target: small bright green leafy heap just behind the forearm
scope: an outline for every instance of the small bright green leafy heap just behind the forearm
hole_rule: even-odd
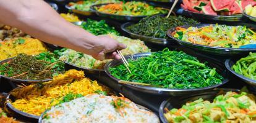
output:
[[[120,35],[118,31],[114,29],[114,27],[106,24],[105,20],[96,21],[87,19],[87,21],[83,22],[80,27],[82,27],[84,30],[89,31],[90,33],[95,34],[96,36],[108,33],[114,34],[116,36]]]

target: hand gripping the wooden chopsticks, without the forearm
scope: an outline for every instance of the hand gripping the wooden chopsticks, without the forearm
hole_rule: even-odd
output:
[[[92,57],[96,60],[105,59],[120,59],[121,57],[117,54],[116,50],[125,49],[126,46],[110,38],[107,35],[97,36],[95,44],[90,49]]]

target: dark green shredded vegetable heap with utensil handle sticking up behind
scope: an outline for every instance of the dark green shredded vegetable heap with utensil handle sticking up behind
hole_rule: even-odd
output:
[[[192,18],[182,16],[170,16],[169,18],[160,15],[153,15],[143,18],[139,23],[127,27],[129,31],[142,36],[166,39],[166,31],[175,26],[193,25],[198,23]]]

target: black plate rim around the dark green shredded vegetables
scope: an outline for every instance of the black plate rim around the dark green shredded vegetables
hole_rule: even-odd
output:
[[[134,38],[134,39],[140,39],[142,41],[145,42],[150,42],[153,44],[161,44],[161,45],[166,45],[166,44],[174,44],[176,43],[173,39],[163,39],[163,38],[151,38],[148,36],[142,36],[140,34],[135,34],[130,32],[129,30],[127,30],[127,27],[130,25],[134,25],[134,23],[132,22],[127,22],[121,25],[121,29],[122,31],[128,33],[130,35],[130,37]]]

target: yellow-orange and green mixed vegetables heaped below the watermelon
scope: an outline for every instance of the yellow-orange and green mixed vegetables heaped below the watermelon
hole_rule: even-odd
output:
[[[211,47],[241,48],[247,44],[256,44],[256,33],[246,26],[216,24],[200,28],[177,27],[171,35],[181,41]]]

